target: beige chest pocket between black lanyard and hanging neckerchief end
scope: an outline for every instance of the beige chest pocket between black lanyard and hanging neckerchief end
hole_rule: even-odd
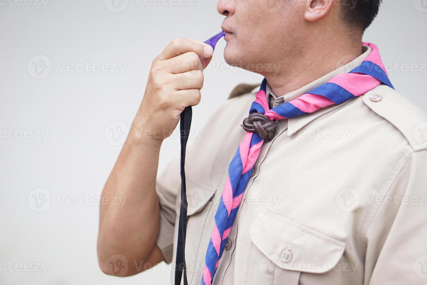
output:
[[[185,262],[187,265],[188,284],[200,284],[205,264],[206,244],[201,244],[202,236],[206,236],[208,229],[212,231],[215,221],[208,219],[212,208],[211,199],[216,193],[216,188],[211,185],[199,182],[190,177],[186,177],[187,186],[187,235],[185,240]],[[181,199],[177,199],[175,212],[177,221]],[[213,211],[215,211],[214,209]],[[210,237],[211,232],[209,232]]]

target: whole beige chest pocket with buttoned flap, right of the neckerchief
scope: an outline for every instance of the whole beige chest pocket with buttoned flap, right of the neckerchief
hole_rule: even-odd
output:
[[[269,280],[263,284],[298,285],[302,273],[328,273],[328,284],[337,284],[340,274],[331,270],[341,259],[345,243],[265,209],[252,223],[250,238],[255,247],[250,262],[258,270],[248,276]]]

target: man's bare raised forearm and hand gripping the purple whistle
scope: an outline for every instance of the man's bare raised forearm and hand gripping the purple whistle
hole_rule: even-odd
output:
[[[202,71],[212,54],[207,44],[175,39],[152,64],[131,132],[102,191],[102,199],[126,198],[123,208],[100,206],[98,259],[107,274],[117,275],[111,259],[129,264],[120,276],[164,260],[156,245],[160,206],[155,186],[161,142],[171,135],[184,108],[199,103]]]

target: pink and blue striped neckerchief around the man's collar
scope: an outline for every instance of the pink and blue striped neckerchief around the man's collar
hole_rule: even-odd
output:
[[[360,66],[349,73],[339,74],[297,99],[272,109],[269,108],[267,102],[266,79],[264,79],[249,114],[258,112],[266,115],[270,120],[295,118],[326,106],[344,103],[371,91],[381,83],[394,89],[381,61],[377,46],[369,43],[363,44],[371,47],[371,53]],[[206,252],[202,285],[212,284],[231,226],[263,143],[264,140],[256,133],[246,132],[236,155],[228,166],[228,179],[216,210],[215,227]]]

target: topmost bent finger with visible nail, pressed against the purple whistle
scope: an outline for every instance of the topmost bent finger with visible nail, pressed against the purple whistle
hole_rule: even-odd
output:
[[[160,60],[172,59],[189,51],[197,53],[201,58],[208,58],[213,55],[213,48],[201,41],[189,40],[186,38],[175,38],[158,56]]]

